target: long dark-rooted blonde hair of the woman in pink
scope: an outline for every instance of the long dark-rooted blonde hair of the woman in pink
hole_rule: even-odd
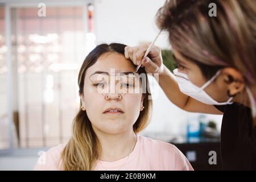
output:
[[[78,78],[80,94],[83,93],[86,70],[96,63],[98,57],[106,52],[116,52],[123,55],[125,47],[125,45],[118,43],[112,43],[109,45],[101,44],[86,56],[84,63],[81,66]],[[146,75],[144,68],[140,68],[139,73],[145,73]],[[137,121],[134,123],[133,129],[135,133],[142,131],[147,126],[151,118],[152,100],[148,100],[148,96],[150,96],[148,89],[146,89],[146,93],[143,94],[144,110],[141,111]],[[69,140],[61,154],[63,169],[67,171],[92,170],[97,159],[100,158],[100,155],[101,144],[93,131],[92,124],[86,114],[86,111],[80,109],[73,121],[72,138]]]

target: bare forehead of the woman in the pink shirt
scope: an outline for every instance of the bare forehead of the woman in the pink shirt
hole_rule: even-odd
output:
[[[109,52],[101,55],[96,63],[87,69],[86,75],[92,75],[94,72],[110,69],[115,69],[119,72],[133,72],[135,67],[130,60],[125,59],[124,55]]]

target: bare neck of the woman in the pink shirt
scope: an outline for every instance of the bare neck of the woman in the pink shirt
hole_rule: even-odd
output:
[[[137,137],[133,129],[119,134],[108,134],[94,129],[101,143],[100,160],[113,162],[128,156],[133,150]]]

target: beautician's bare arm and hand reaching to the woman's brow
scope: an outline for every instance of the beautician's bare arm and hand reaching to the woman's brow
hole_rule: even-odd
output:
[[[142,63],[147,73],[159,73],[159,85],[169,100],[183,110],[195,113],[223,114],[213,105],[207,105],[180,92],[174,74],[163,64],[159,47],[153,46],[148,57],[143,59],[149,44],[125,47],[125,57],[135,65]]]

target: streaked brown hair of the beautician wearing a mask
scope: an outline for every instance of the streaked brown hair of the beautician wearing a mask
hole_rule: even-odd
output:
[[[217,16],[209,16],[215,3]],[[247,85],[256,80],[256,6],[253,0],[167,0],[156,24],[169,32],[173,48],[195,62],[210,78],[221,67],[233,67]]]

